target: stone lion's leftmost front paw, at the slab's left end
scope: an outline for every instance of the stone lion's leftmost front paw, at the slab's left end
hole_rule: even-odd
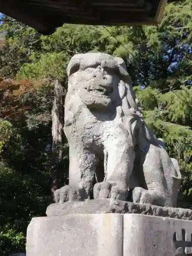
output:
[[[67,201],[84,201],[87,199],[86,190],[70,185],[63,186],[54,192],[56,203],[65,203]]]

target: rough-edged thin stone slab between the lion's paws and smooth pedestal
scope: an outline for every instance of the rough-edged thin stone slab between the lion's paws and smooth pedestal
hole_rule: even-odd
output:
[[[121,200],[95,199],[84,202],[55,203],[47,207],[47,216],[69,216],[78,214],[141,214],[192,221],[192,210],[161,207]]]

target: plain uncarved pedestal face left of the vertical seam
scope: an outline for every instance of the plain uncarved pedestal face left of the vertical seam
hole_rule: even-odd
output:
[[[122,215],[33,218],[27,229],[27,256],[121,256]]]

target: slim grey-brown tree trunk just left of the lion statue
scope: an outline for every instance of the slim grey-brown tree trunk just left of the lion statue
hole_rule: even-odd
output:
[[[59,163],[63,158],[63,125],[64,125],[64,94],[62,84],[58,79],[54,83],[54,101],[52,108],[52,153],[55,164]],[[59,169],[54,168],[52,174],[52,201],[54,201],[53,193],[59,188]]]

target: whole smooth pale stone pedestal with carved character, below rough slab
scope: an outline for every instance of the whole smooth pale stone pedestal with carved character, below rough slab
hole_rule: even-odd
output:
[[[138,214],[33,218],[27,256],[175,256],[192,253],[192,221]]]

